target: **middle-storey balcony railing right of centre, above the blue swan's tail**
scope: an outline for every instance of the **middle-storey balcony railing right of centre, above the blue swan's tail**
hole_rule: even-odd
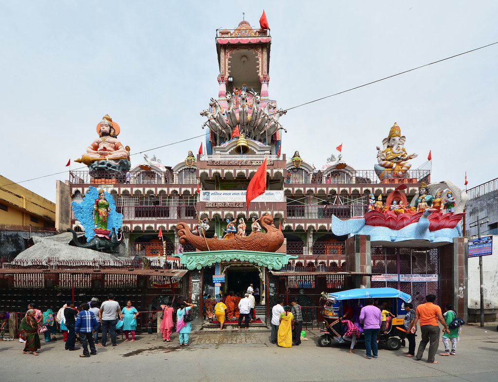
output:
[[[287,219],[332,219],[335,215],[339,219],[350,219],[363,216],[368,211],[368,205],[300,205],[287,206]]]

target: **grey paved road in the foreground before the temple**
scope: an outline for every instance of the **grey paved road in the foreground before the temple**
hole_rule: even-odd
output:
[[[403,348],[381,350],[376,360],[365,360],[362,348],[355,354],[349,354],[346,347],[320,348],[315,332],[291,349],[272,345],[267,333],[250,331],[192,333],[187,348],[176,341],[166,344],[153,336],[138,336],[133,343],[120,340],[115,348],[98,348],[91,358],[79,358],[80,351],[64,351],[62,341],[42,343],[38,357],[22,354],[17,341],[0,342],[0,381],[135,377],[147,382],[497,382],[498,333],[494,328],[466,326],[457,356],[438,356],[440,364],[433,365],[404,357]]]

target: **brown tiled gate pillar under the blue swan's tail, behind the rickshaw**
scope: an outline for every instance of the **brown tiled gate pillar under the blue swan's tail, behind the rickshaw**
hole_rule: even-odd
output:
[[[349,272],[372,273],[370,235],[355,235],[346,240],[346,262]],[[370,288],[370,276],[355,276],[355,288]]]

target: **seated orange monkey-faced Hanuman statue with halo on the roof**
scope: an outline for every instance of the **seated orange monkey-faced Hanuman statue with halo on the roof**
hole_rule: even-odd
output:
[[[91,171],[128,171],[130,148],[118,139],[120,126],[106,114],[97,125],[97,133],[99,137],[75,162],[86,164]]]

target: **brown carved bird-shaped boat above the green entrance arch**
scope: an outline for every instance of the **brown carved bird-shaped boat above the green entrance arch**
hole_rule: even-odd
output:
[[[187,224],[178,223],[176,230],[182,245],[187,242],[200,251],[244,250],[259,252],[276,252],[283,244],[283,234],[273,225],[270,215],[261,217],[261,226],[266,233],[258,232],[250,236],[235,236],[231,239],[204,238],[190,232]],[[207,242],[207,245],[206,245]],[[209,249],[208,249],[209,246]]]

